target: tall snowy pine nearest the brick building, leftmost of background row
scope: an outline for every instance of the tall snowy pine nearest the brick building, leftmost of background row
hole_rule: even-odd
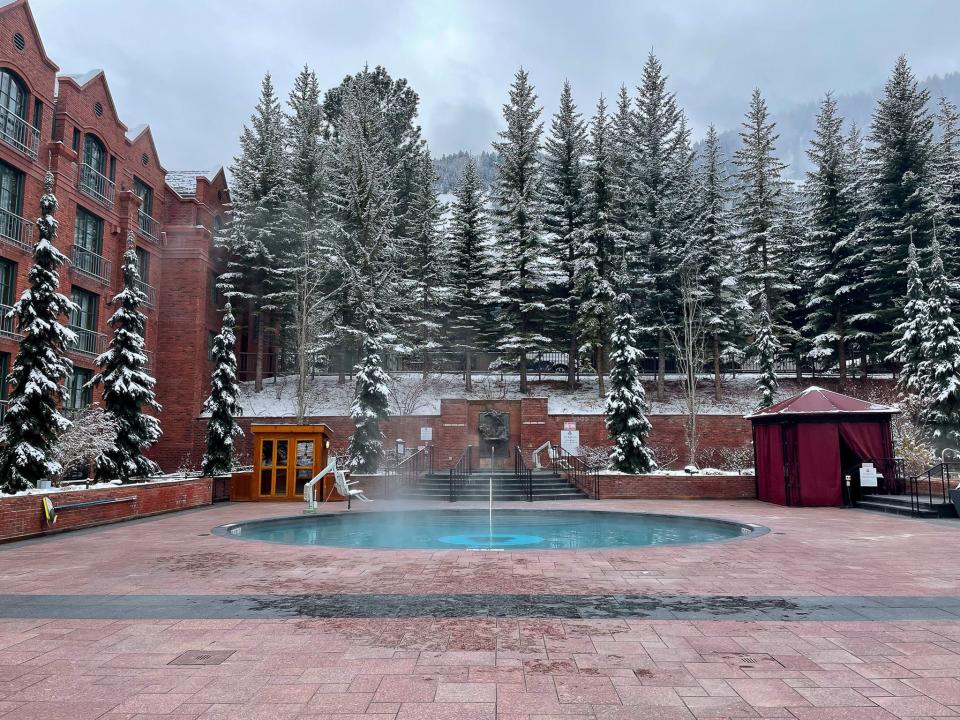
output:
[[[219,278],[229,287],[227,296],[241,304],[250,319],[257,392],[263,389],[266,333],[272,327],[272,314],[282,308],[274,294],[284,290],[285,279],[277,258],[290,240],[284,213],[284,136],[283,111],[268,73],[250,124],[240,135],[240,154],[230,166],[230,225],[221,238],[227,272]]]

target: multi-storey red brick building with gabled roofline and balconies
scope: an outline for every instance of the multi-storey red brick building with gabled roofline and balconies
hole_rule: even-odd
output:
[[[209,343],[219,330],[213,234],[228,201],[222,169],[168,172],[150,128],[128,128],[102,70],[60,74],[26,0],[0,4],[0,313],[27,283],[44,176],[59,201],[57,246],[69,258],[60,289],[77,310],[69,325],[67,410],[96,400],[84,384],[109,339],[113,296],[122,287],[128,238],[140,259],[147,304],[149,370],[164,406],[162,445],[170,469],[192,446],[208,391]],[[0,374],[17,352],[0,319]],[[7,387],[0,383],[0,402]]]

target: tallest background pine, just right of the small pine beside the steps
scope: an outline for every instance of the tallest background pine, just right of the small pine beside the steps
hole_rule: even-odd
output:
[[[653,53],[643,67],[632,115],[633,147],[627,166],[633,235],[627,269],[640,334],[657,352],[657,399],[663,399],[667,326],[677,322],[678,268],[689,239],[695,200],[689,131],[667,77]],[[643,302],[640,302],[640,298]]]

